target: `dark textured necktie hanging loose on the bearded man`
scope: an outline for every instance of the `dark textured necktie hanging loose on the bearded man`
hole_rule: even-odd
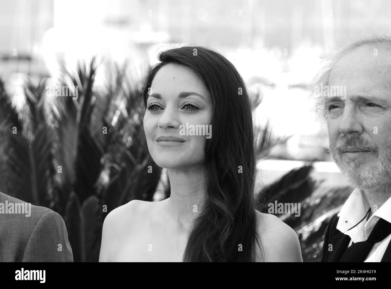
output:
[[[364,262],[373,245],[383,241],[391,234],[391,223],[384,219],[379,219],[373,227],[372,232],[366,241],[353,243],[342,255],[339,262]]]

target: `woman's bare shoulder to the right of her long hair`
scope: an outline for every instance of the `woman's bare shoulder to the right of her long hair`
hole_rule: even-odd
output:
[[[256,211],[265,262],[303,262],[296,232],[278,217]]]

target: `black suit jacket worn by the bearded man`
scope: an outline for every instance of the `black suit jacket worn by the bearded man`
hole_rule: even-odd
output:
[[[335,214],[328,223],[321,262],[339,262],[350,243],[350,237],[337,230],[338,216]],[[332,251],[328,251],[329,244],[332,244]],[[391,262],[391,242],[384,252],[381,262]]]

